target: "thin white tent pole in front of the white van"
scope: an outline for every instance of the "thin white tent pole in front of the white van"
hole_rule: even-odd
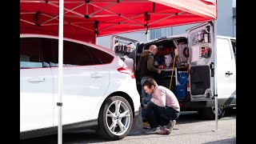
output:
[[[217,89],[217,21],[214,20],[214,98],[215,98],[215,130],[218,130],[218,89]]]

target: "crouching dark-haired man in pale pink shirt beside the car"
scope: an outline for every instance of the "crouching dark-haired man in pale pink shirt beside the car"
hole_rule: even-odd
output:
[[[150,129],[155,131],[160,129],[159,126],[165,126],[173,130],[180,114],[180,106],[174,93],[165,86],[158,86],[153,78],[147,78],[142,86],[146,94],[152,94],[150,102],[144,106]]]

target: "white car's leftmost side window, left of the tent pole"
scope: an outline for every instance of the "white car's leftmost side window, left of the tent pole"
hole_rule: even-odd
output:
[[[38,68],[42,66],[40,39],[20,38],[20,68]]]

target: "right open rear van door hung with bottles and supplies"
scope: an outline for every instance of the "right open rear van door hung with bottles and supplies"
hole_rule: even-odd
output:
[[[214,23],[207,22],[188,30],[189,84],[191,102],[214,97]]]

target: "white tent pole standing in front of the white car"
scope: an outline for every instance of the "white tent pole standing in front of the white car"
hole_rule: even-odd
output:
[[[62,74],[63,74],[63,12],[64,0],[59,0],[58,19],[58,144],[62,144]]]

